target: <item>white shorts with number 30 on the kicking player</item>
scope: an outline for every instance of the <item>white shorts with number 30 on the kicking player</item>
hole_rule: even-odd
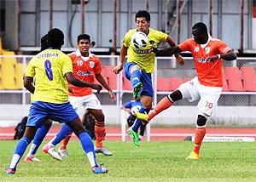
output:
[[[213,108],[218,104],[218,98],[222,91],[222,88],[219,87],[202,85],[197,77],[189,82],[184,82],[177,89],[183,94],[183,99],[187,99],[189,102],[199,100],[197,105],[199,111],[209,117],[212,115]]]

